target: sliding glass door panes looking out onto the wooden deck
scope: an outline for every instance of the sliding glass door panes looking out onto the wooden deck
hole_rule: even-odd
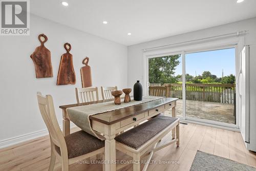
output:
[[[148,57],[147,67],[148,94],[178,98],[179,118],[236,124],[235,48]]]

